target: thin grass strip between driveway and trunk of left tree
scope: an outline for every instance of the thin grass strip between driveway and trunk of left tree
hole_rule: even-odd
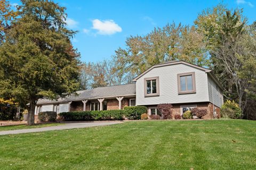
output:
[[[10,126],[0,126],[0,131],[9,131],[17,129],[30,129],[30,128],[43,128],[47,126],[58,126],[63,125],[64,123],[45,123],[45,124],[35,124],[33,126],[28,126],[26,124],[21,125],[10,125]]]

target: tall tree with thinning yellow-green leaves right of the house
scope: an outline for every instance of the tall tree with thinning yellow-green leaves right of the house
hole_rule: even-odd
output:
[[[248,100],[255,101],[256,77],[255,27],[246,23],[243,10],[232,11],[223,5],[203,11],[195,21],[205,35],[213,70],[226,89],[226,98],[238,101],[243,111]]]

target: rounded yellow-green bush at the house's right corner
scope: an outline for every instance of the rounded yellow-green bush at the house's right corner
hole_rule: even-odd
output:
[[[227,100],[220,109],[221,117],[240,118],[242,117],[242,109],[235,101]]]

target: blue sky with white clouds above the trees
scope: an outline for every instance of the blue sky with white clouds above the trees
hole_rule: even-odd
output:
[[[198,13],[222,1],[55,0],[67,7],[68,28],[79,31],[73,45],[81,61],[97,62],[125,47],[130,35],[146,35],[168,22],[193,24]],[[249,24],[256,20],[256,0],[223,1],[229,8],[243,8]],[[20,4],[11,1],[11,4]]]

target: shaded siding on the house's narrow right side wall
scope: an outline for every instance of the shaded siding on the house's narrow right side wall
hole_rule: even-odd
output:
[[[208,91],[209,91],[209,101],[212,104],[218,107],[221,107],[223,104],[222,90],[220,89],[219,86],[217,86],[217,83],[215,83],[209,75],[208,75]]]

